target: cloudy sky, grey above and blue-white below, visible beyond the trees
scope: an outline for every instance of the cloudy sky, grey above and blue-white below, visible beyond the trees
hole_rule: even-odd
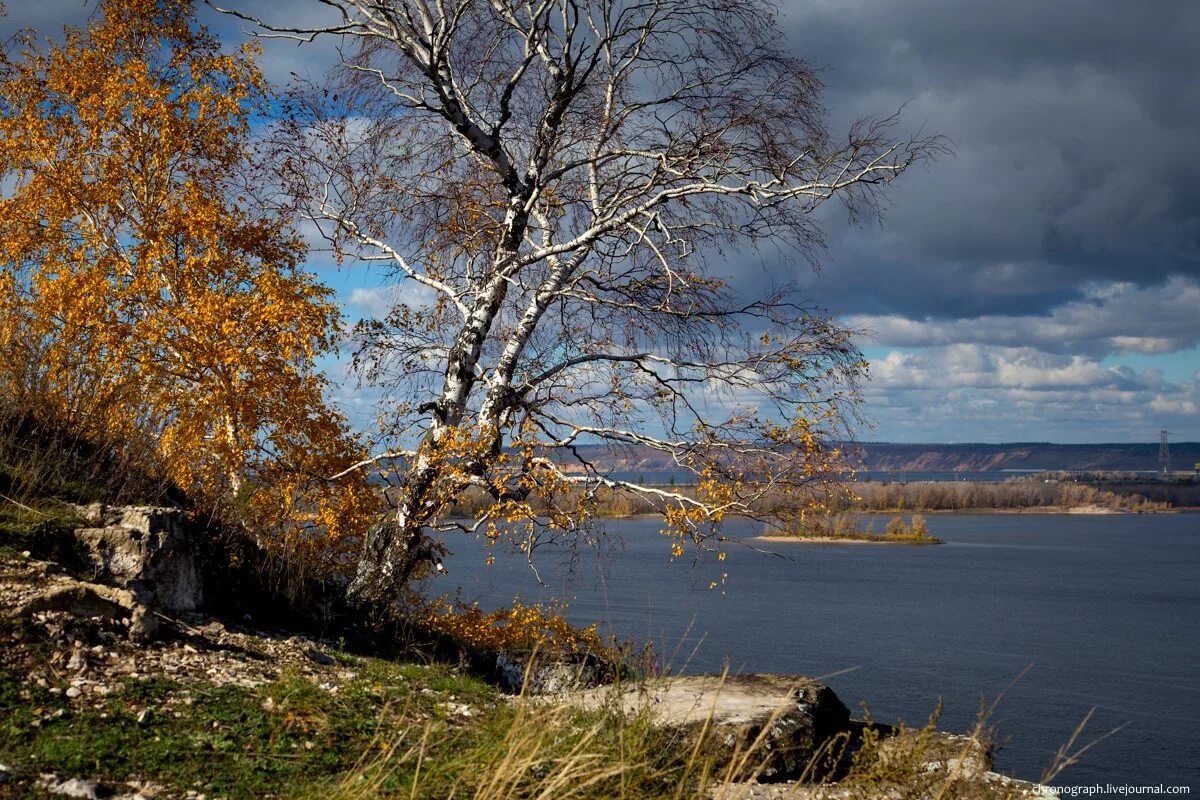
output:
[[[227,2],[324,14],[316,0]],[[5,35],[95,7],[7,6]],[[230,43],[245,36],[203,18]],[[864,331],[865,439],[1200,439],[1200,4],[782,0],[780,26],[818,70],[832,131],[902,107],[902,131],[954,148],[902,176],[878,223],[824,209],[818,271],[755,253],[722,265],[746,285],[798,283]],[[269,42],[262,66],[282,83],[330,59]],[[352,317],[392,291],[360,267],[311,266]]]

